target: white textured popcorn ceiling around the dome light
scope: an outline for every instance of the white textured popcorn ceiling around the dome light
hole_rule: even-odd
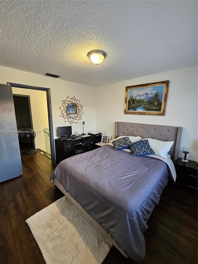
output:
[[[5,67],[100,86],[197,65],[197,1],[0,1],[0,10]],[[98,66],[87,57],[95,49],[107,54]]]

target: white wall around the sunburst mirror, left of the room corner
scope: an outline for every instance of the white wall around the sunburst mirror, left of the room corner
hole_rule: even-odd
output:
[[[80,100],[84,112],[82,119],[77,124],[72,123],[72,132],[82,133],[83,121],[85,122],[84,133],[95,131],[96,89],[94,87],[0,66],[0,83],[7,84],[7,82],[50,88],[54,138],[57,137],[57,127],[71,125],[69,122],[65,122],[64,118],[60,116],[61,110],[59,109],[62,106],[62,100],[66,100],[67,96],[75,96],[76,100]]]

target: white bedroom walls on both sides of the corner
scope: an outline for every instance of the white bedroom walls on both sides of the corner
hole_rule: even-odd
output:
[[[124,114],[125,87],[169,80],[169,91],[165,116]],[[40,86],[51,89],[54,137],[58,126],[70,125],[64,122],[59,107],[67,96],[80,100],[83,105],[82,120],[72,124],[72,132],[98,131],[114,135],[114,122],[135,122],[182,126],[182,141],[179,157],[183,157],[183,147],[190,148],[188,159],[197,161],[197,66],[167,71],[132,80],[126,80],[101,87],[91,87],[60,79],[53,79],[26,71],[0,67],[0,82]],[[97,122],[96,122],[97,120]]]

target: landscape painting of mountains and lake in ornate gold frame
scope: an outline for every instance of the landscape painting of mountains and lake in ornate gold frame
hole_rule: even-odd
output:
[[[126,87],[125,114],[165,115],[169,81]]]

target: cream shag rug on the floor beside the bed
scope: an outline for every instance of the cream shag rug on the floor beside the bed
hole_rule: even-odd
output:
[[[101,264],[112,247],[67,197],[25,222],[47,264]]]

